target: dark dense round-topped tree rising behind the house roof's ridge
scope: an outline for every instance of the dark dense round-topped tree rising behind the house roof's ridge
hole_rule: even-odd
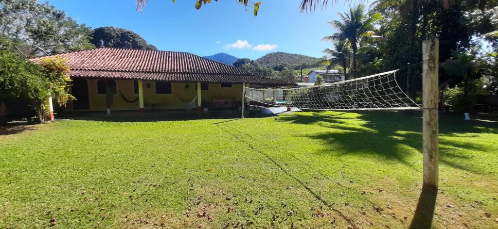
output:
[[[113,26],[96,28],[90,42],[97,47],[157,50],[135,32]]]

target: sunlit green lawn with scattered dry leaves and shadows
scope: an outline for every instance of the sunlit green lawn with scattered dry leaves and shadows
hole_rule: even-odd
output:
[[[407,228],[421,121],[302,112],[4,131],[0,228]],[[496,122],[441,117],[435,228],[498,227],[497,142]]]

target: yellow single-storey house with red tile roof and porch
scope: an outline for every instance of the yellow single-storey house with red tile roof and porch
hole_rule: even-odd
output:
[[[98,48],[45,57],[67,60],[68,111],[194,109],[238,106],[246,86],[293,85],[211,61],[190,53]],[[38,63],[42,58],[31,59]]]

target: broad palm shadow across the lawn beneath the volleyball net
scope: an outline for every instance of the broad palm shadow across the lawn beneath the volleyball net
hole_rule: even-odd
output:
[[[361,112],[351,115],[328,115],[325,112],[292,113],[281,115],[278,121],[293,124],[315,124],[335,130],[318,134],[304,135],[311,139],[322,140],[329,149],[317,152],[320,154],[364,154],[380,156],[394,160],[407,166],[413,150],[422,152],[422,118],[421,113],[404,114],[402,112]],[[356,116],[355,116],[356,115]],[[472,120],[464,122],[452,116],[440,119],[440,136],[476,137],[480,133],[498,133],[496,123]],[[473,167],[459,165],[453,159],[467,159],[468,155],[452,153],[455,148],[491,153],[493,149],[472,142],[456,142],[448,139],[439,140],[441,163],[465,169],[475,173],[483,173]],[[412,150],[410,150],[412,149]]]

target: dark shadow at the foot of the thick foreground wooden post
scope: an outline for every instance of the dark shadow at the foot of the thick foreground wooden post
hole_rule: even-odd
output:
[[[410,229],[426,229],[431,228],[432,219],[434,217],[434,209],[436,207],[437,188],[423,185],[422,192],[418,198],[415,215],[410,224]]]

